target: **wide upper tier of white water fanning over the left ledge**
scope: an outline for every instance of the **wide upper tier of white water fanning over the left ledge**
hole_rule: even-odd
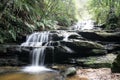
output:
[[[49,41],[49,31],[35,32],[31,34],[27,41],[22,43],[21,46],[24,47],[40,47],[43,42]]]

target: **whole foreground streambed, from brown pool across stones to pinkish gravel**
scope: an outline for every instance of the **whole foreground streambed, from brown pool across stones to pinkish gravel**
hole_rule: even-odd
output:
[[[120,80],[120,73],[110,68],[82,68],[74,65],[54,65],[53,72],[25,73],[21,67],[0,67],[0,80]]]

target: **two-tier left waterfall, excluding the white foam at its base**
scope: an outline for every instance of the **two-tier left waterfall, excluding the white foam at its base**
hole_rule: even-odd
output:
[[[45,48],[42,46],[43,42],[49,41],[49,31],[35,32],[31,34],[26,42],[22,43],[21,46],[37,47],[31,52],[32,54],[32,66],[39,66],[44,64],[44,51]],[[40,61],[40,64],[39,64]]]

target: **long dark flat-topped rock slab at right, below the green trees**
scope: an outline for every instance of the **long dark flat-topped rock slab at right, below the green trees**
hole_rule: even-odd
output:
[[[106,41],[106,42],[119,42],[120,41],[120,32],[105,32],[105,31],[87,31],[87,32],[78,32],[82,37],[92,40],[92,41]]]

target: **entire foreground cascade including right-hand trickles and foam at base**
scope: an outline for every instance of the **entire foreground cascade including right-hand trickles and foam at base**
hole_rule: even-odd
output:
[[[73,33],[72,33],[73,34]],[[44,67],[45,55],[50,50],[51,60],[54,64],[55,53],[54,49],[61,48],[68,53],[72,53],[73,51],[65,46],[61,45],[60,41],[68,41],[68,37],[71,35],[66,31],[43,31],[43,32],[35,32],[28,36],[26,42],[21,44],[21,47],[32,47],[31,56],[32,56],[32,64],[28,67],[25,67],[23,71],[25,72],[41,72],[41,71],[50,71],[50,69]],[[62,37],[61,37],[62,36]],[[53,38],[54,37],[54,38]],[[49,52],[48,52],[49,53]]]

